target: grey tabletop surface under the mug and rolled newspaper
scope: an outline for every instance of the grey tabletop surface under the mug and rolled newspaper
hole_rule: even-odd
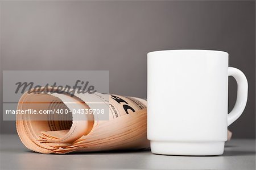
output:
[[[255,169],[255,140],[232,139],[221,156],[167,156],[150,151],[44,155],[18,135],[0,136],[0,169]]]

